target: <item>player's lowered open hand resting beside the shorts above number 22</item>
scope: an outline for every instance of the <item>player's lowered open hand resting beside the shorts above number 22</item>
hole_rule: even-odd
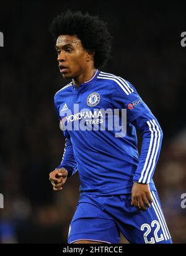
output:
[[[149,185],[135,182],[131,191],[131,205],[141,211],[146,210],[146,207],[150,208],[151,203],[153,203],[153,197]]]

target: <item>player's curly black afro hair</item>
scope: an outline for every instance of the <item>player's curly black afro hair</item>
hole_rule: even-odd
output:
[[[110,57],[112,35],[108,32],[107,23],[100,21],[98,16],[68,10],[55,17],[50,32],[55,41],[59,35],[76,35],[85,50],[95,52],[95,68],[105,66]]]

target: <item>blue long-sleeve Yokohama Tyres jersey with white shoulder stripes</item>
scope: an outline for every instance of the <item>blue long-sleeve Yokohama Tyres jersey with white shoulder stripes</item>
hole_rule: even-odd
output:
[[[57,168],[66,168],[68,176],[79,171],[81,193],[129,193],[134,181],[149,183],[151,190],[155,189],[153,174],[162,130],[130,82],[97,70],[79,88],[73,83],[64,86],[54,100],[66,137],[63,159]],[[111,121],[125,125],[123,135],[116,136],[116,126],[108,129],[110,117],[103,114],[108,109],[108,114],[118,109]],[[126,109],[124,123],[122,109]],[[143,136],[140,157],[136,129]]]

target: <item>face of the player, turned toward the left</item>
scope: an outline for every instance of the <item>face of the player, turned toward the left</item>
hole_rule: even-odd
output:
[[[64,78],[78,78],[86,68],[87,52],[76,35],[60,35],[56,41],[60,73]]]

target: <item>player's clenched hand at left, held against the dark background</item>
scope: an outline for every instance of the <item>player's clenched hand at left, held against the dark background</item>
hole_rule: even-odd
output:
[[[49,175],[49,180],[53,186],[54,191],[63,190],[63,185],[66,182],[68,176],[68,170],[64,168],[56,169],[51,171]]]

